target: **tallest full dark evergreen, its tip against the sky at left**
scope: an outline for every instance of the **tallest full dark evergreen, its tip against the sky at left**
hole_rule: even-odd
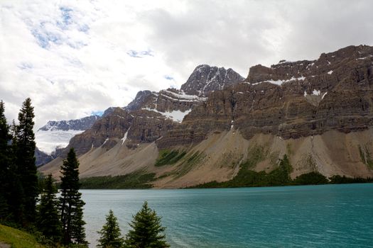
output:
[[[26,98],[18,113],[18,125],[16,126],[16,137],[13,140],[16,155],[16,173],[21,181],[26,224],[34,222],[36,216],[36,198],[38,197],[38,177],[35,165],[35,135],[33,133],[33,106],[31,99]],[[19,196],[18,196],[19,197]]]

